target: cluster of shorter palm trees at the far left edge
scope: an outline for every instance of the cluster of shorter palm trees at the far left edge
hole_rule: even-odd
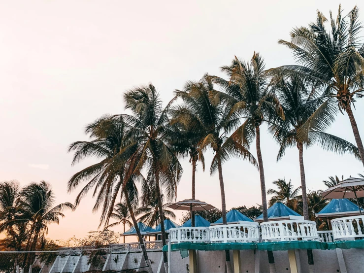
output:
[[[0,182],[0,232],[6,237],[0,240],[3,249],[34,251],[46,243],[48,225],[59,224],[65,209],[73,209],[70,203],[54,206],[55,195],[45,181],[30,183],[20,188],[17,181]],[[17,263],[28,269],[33,264],[34,253],[24,252]]]

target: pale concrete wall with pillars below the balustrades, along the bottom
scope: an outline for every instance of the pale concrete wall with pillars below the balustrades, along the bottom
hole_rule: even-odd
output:
[[[341,253],[341,250],[339,250]],[[288,251],[274,251],[276,270],[279,273],[291,273]],[[307,251],[295,250],[298,273],[309,272]],[[231,255],[231,266],[233,269],[233,254]],[[115,263],[115,257],[119,257]],[[316,273],[358,273],[364,272],[364,249],[343,249],[342,255],[337,254],[336,250],[313,250],[315,272]],[[154,273],[165,273],[163,264],[163,253],[161,251],[148,252]],[[339,257],[339,258],[338,258]],[[136,263],[134,261],[136,258]],[[197,268],[199,273],[225,273],[225,251],[197,251]],[[266,251],[241,250],[241,272],[242,273],[268,273],[269,264]],[[84,273],[89,270],[87,264],[88,256],[58,256],[51,265],[41,265],[37,260],[34,266],[42,268],[41,273]],[[145,265],[141,252],[110,254],[104,271],[137,268]],[[179,251],[171,253],[171,272],[187,273],[189,257],[182,259]],[[141,269],[143,271],[145,269]]]

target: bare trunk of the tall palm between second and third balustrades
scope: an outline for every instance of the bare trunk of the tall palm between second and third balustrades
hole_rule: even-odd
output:
[[[260,176],[260,180],[261,180],[263,220],[264,220],[264,222],[268,222],[265,177],[264,177],[263,157],[262,157],[262,151],[261,151],[261,131],[260,131],[259,125],[255,127],[255,133],[256,133],[256,147],[257,147],[257,157],[258,157],[258,166],[259,166],[259,176]],[[267,254],[268,254],[269,272],[275,273],[276,269],[275,269],[273,251],[268,250]]]

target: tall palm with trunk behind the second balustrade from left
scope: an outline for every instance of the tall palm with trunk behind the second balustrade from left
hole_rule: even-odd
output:
[[[255,166],[257,166],[257,162],[241,142],[230,136],[230,133],[239,124],[239,120],[234,113],[231,114],[231,108],[228,105],[212,101],[212,95],[215,92],[217,91],[213,89],[211,77],[207,74],[199,82],[187,82],[183,91],[176,90],[176,96],[183,100],[183,104],[178,107],[175,122],[183,124],[193,131],[202,130],[206,132],[205,136],[199,141],[199,147],[202,151],[211,148],[213,152],[210,174],[212,175],[216,171],[219,174],[223,224],[226,225],[226,200],[222,165],[232,156],[247,159]],[[226,251],[226,261],[228,272],[230,272],[229,251]]]

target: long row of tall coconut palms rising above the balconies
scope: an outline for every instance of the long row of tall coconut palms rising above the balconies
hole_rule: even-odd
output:
[[[325,26],[327,18],[318,12],[317,22],[295,28],[291,41],[279,41],[292,50],[297,65],[265,70],[259,53],[249,62],[235,57],[231,65],[221,68],[226,78],[205,74],[199,81],[188,81],[182,90],[174,91],[165,107],[151,83],[127,91],[124,102],[128,113],[99,118],[86,127],[89,141],[77,141],[69,147],[74,151],[73,164],[86,157],[98,159],[68,181],[69,191],[86,182],[75,205],[93,189],[93,209],[101,209],[100,226],[107,226],[115,202],[124,200],[148,264],[135,218],[139,195],[155,198],[165,244],[162,197],[174,201],[183,171],[179,159],[190,160],[195,198],[197,164],[204,169],[203,155],[210,150],[210,173],[219,176],[223,223],[227,222],[223,164],[231,157],[248,160],[258,168],[267,221],[260,143],[264,133],[261,125],[266,124],[280,146],[277,160],[287,148],[298,149],[303,216],[308,219],[304,147],[318,144],[338,154],[350,153],[364,165],[363,143],[352,111],[364,92],[358,8],[343,16],[339,7],[337,18],[330,16],[330,29]],[[338,111],[348,114],[357,146],[325,132]],[[257,158],[249,152],[254,140]],[[226,256],[229,261],[229,252]],[[166,253],[164,262],[166,267]]]

